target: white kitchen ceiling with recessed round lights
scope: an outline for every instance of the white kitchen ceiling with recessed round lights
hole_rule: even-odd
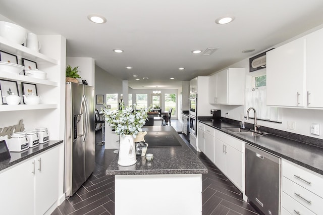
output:
[[[68,57],[92,57],[132,88],[178,88],[322,24],[323,1],[0,0],[0,14],[36,34],[62,34]],[[92,23],[89,14],[107,22]],[[226,15],[235,20],[214,22]],[[207,47],[219,50],[191,53]]]

